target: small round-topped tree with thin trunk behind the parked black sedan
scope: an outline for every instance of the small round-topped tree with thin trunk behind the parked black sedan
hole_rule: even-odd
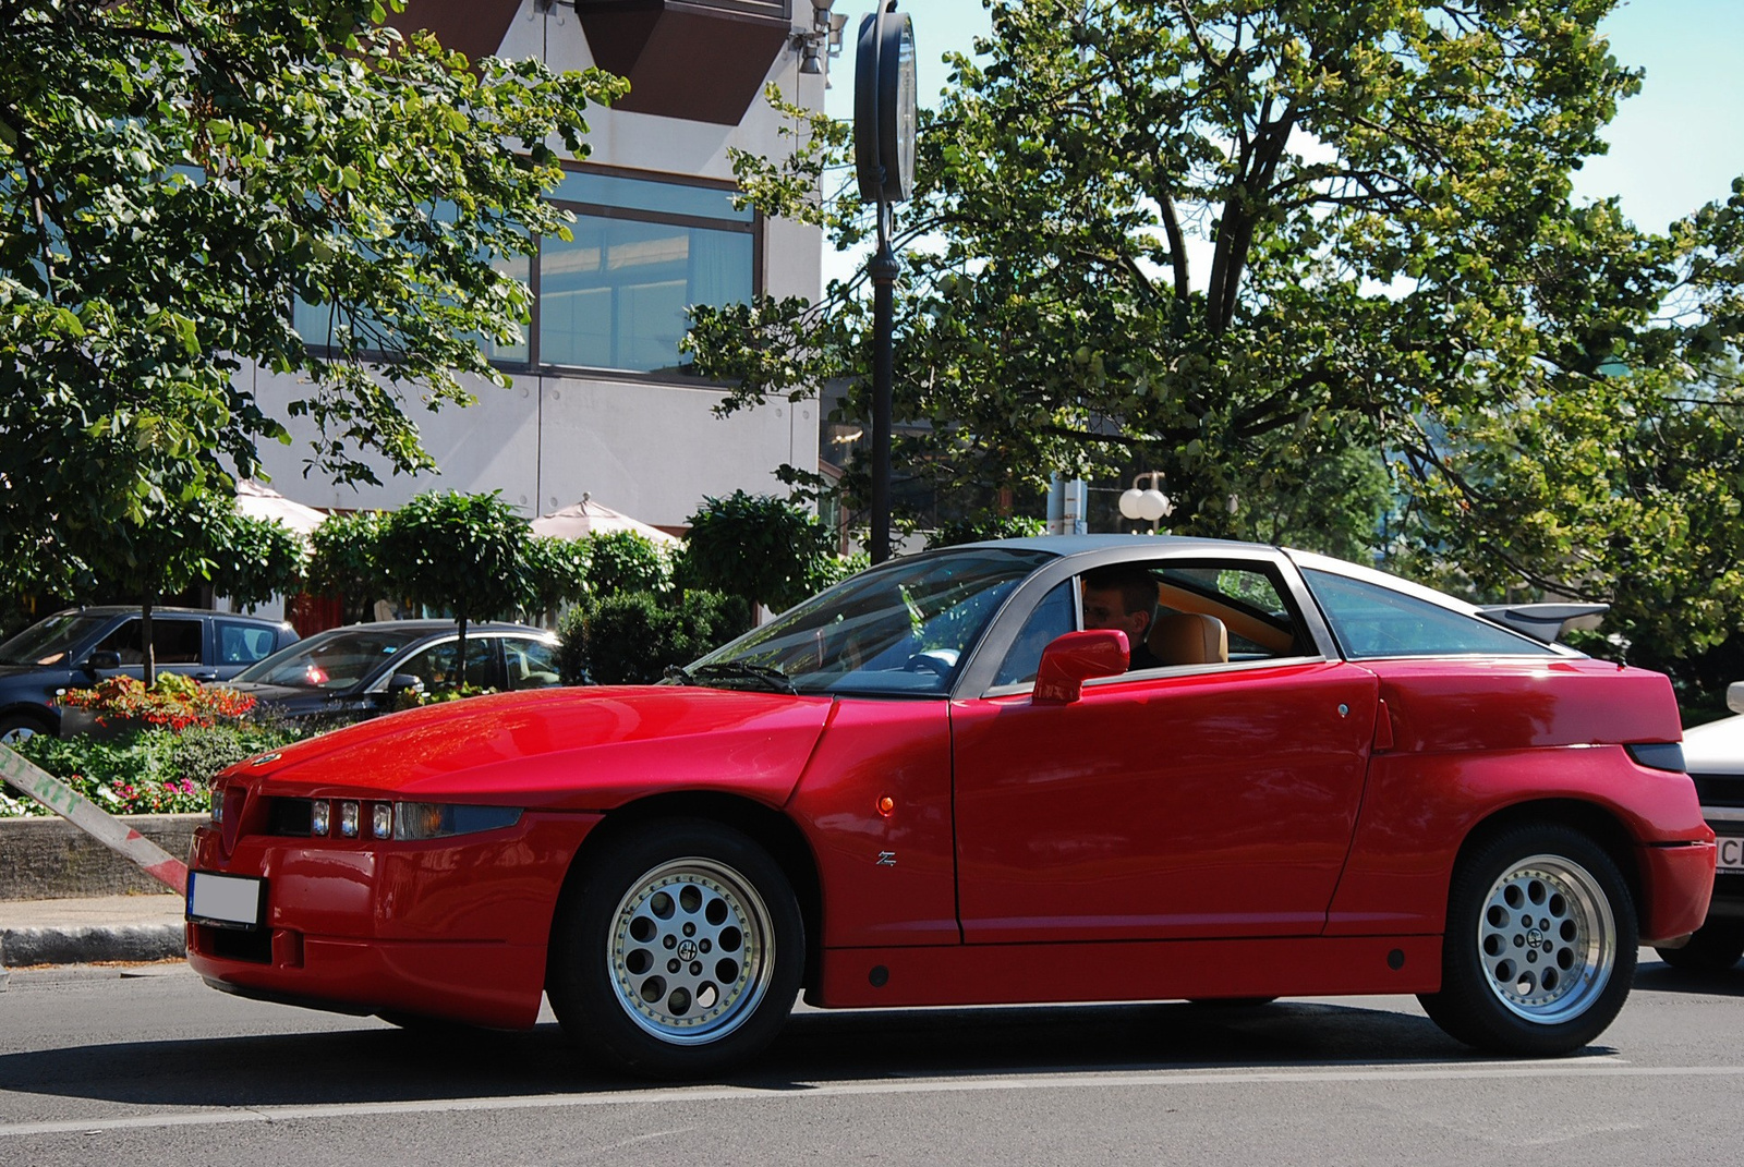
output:
[[[453,612],[460,626],[455,659],[464,661],[467,623],[508,616],[520,604],[527,537],[527,520],[497,490],[429,490],[387,518],[380,562],[413,604]]]

